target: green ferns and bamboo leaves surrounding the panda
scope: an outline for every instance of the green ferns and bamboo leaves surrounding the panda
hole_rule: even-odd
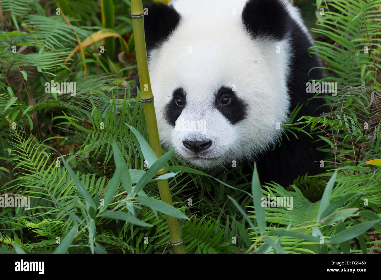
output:
[[[326,143],[324,172],[288,187],[157,157],[133,82],[130,0],[0,2],[0,203],[30,199],[0,207],[0,253],[170,253],[165,214],[187,253],[379,253],[381,0],[295,2],[315,11],[321,82],[340,89],[318,97],[325,114],[288,124],[282,141],[302,124]],[[159,198],[165,179],[174,207]],[[268,195],[293,209],[263,207]]]

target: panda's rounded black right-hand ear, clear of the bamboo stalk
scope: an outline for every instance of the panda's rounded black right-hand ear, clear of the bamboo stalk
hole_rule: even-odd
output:
[[[281,40],[291,19],[282,0],[249,0],[243,8],[242,20],[254,38]]]

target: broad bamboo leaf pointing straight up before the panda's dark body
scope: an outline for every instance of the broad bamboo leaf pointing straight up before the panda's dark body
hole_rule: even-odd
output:
[[[253,203],[255,207],[255,217],[258,224],[258,229],[261,234],[263,234],[266,230],[266,213],[264,208],[262,207],[263,197],[262,186],[259,182],[259,175],[256,167],[256,163],[254,164],[254,172],[251,180],[251,194],[253,195]]]

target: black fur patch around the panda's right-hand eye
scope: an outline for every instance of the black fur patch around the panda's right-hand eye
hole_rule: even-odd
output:
[[[229,104],[221,104],[221,98],[223,96],[229,96]],[[246,107],[247,104],[241,99],[237,98],[237,95],[231,88],[222,86],[217,94],[215,99],[215,107],[224,115],[224,117],[229,120],[231,124],[239,122],[246,117]]]

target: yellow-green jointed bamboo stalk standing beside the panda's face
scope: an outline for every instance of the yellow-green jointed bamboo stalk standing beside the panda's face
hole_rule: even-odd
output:
[[[160,145],[159,133],[157,130],[157,120],[154,107],[154,95],[151,90],[151,83],[148,73],[146,39],[144,38],[144,10],[142,0],[131,1],[131,16],[134,30],[136,61],[138,64],[139,83],[141,88],[141,100],[143,102],[144,115],[146,116],[149,144],[157,157],[161,157],[162,148]],[[157,175],[165,173],[159,171]],[[171,192],[168,181],[161,180],[157,182],[160,198],[163,202],[173,206]],[[171,237],[171,244],[176,254],[184,254],[184,243],[180,234],[177,219],[165,215],[168,229]]]

